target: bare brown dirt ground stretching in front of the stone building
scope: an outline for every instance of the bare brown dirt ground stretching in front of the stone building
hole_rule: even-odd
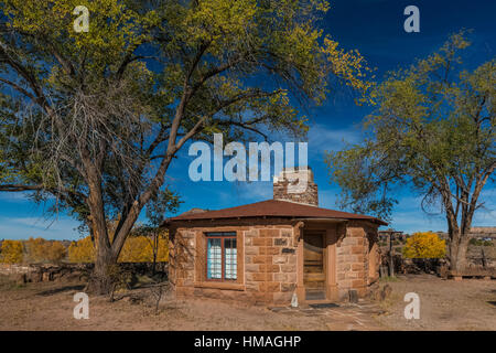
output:
[[[384,302],[335,308],[271,310],[214,300],[162,298],[155,312],[150,289],[90,297],[89,319],[76,320],[74,295],[82,282],[17,286],[0,280],[0,330],[496,330],[496,281],[445,281],[413,276],[388,282]],[[385,285],[385,284],[381,284]],[[406,320],[406,292],[420,296],[419,320]],[[138,298],[138,299],[132,299]]]

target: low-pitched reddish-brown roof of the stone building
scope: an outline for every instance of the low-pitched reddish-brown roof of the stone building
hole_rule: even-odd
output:
[[[321,208],[311,205],[299,204],[289,201],[267,200],[250,203],[242,206],[207,211],[202,213],[183,213],[179,216],[168,218],[164,223],[174,221],[193,220],[219,220],[241,217],[293,217],[293,218],[338,218],[338,220],[368,220],[387,225],[386,222],[376,217]]]

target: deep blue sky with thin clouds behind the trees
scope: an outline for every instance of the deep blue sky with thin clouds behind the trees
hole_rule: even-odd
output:
[[[403,9],[414,4],[420,9],[420,33],[403,31]],[[487,0],[335,0],[323,23],[345,49],[357,49],[369,64],[377,67],[378,77],[387,71],[409,65],[436,50],[450,33],[462,28],[473,29],[473,45],[466,57],[466,67],[473,68],[495,56],[496,1]],[[309,111],[309,163],[319,184],[320,203],[336,208],[337,185],[328,182],[323,162],[325,150],[335,150],[344,141],[358,142],[357,124],[370,108],[356,107],[347,92],[337,89],[325,105]],[[181,152],[168,172],[166,182],[177,191],[184,203],[180,212],[192,207],[222,208],[272,197],[270,182],[229,183],[192,182],[187,169],[193,157]],[[225,159],[226,161],[227,159]],[[474,225],[496,224],[496,185],[486,185],[483,201],[486,207],[478,211]],[[420,199],[408,190],[399,195],[399,205],[392,214],[391,226],[405,231],[445,231],[442,216],[428,216],[420,210]],[[144,221],[144,220],[142,220]],[[22,194],[0,193],[0,238],[28,238],[42,236],[53,239],[74,239],[80,235],[77,223],[64,214],[45,220],[43,208],[33,205]]]

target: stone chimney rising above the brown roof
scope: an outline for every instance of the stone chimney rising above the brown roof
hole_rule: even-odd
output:
[[[273,178],[273,200],[319,206],[319,190],[310,168],[283,169]]]

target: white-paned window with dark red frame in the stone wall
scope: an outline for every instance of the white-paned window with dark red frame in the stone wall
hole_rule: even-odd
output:
[[[207,279],[237,279],[236,232],[207,233]]]

